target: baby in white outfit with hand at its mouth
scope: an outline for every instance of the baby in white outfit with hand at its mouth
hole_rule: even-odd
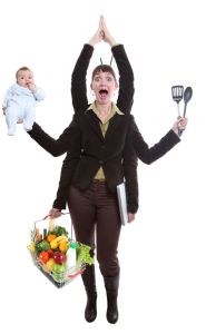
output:
[[[33,73],[28,67],[18,69],[16,79],[17,82],[8,89],[2,105],[9,136],[16,134],[17,122],[23,122],[26,131],[31,130],[36,106],[45,99],[45,91],[35,85]]]

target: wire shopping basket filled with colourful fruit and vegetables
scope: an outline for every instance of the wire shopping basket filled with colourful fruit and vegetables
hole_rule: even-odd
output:
[[[32,259],[58,287],[78,276],[86,264],[94,262],[89,254],[90,247],[70,239],[67,229],[55,226],[53,220],[49,222],[48,229],[43,228],[42,240],[39,239],[39,228],[35,225],[30,233],[29,247]]]

